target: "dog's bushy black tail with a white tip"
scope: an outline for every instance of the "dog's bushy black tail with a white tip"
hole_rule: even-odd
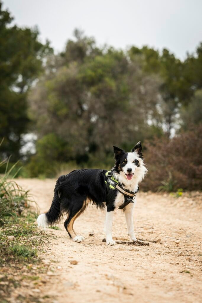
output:
[[[60,223],[62,213],[60,210],[60,197],[58,193],[58,186],[61,182],[65,181],[68,175],[60,176],[56,182],[54,189],[54,197],[51,203],[51,207],[48,212],[41,214],[37,218],[38,227],[47,228],[54,223]]]

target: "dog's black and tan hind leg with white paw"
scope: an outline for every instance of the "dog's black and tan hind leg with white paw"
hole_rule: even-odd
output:
[[[82,201],[77,200],[76,203],[71,204],[71,208],[69,209],[69,215],[64,223],[65,229],[67,230],[70,238],[72,238],[72,240],[76,242],[83,241],[84,237],[76,235],[73,225],[76,218],[78,218],[82,214],[86,206],[87,203],[85,200]]]

